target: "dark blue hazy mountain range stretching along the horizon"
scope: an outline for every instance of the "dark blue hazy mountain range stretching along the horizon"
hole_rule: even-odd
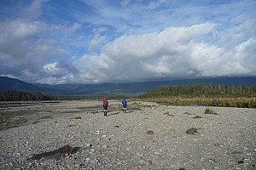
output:
[[[52,95],[137,95],[149,90],[174,85],[212,83],[235,86],[256,86],[256,77],[218,77],[183,79],[160,82],[102,83],[102,84],[58,84],[28,83],[15,78],[0,77],[0,90],[42,92]]]

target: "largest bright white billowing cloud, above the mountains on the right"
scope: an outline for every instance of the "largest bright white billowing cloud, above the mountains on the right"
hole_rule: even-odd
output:
[[[239,76],[255,76],[255,39],[238,41],[233,49],[204,42],[216,29],[206,23],[119,37],[102,54],[84,56],[75,65],[84,82],[236,76],[237,71]]]

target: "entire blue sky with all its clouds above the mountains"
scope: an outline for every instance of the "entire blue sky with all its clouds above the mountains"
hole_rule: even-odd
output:
[[[0,76],[48,84],[256,76],[255,0],[0,0]]]

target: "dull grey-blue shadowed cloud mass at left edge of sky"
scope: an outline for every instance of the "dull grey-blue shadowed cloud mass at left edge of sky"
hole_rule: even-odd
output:
[[[0,22],[0,72],[3,75],[36,81],[42,76],[42,66],[49,59],[64,54],[65,51],[51,37],[55,26],[36,20],[38,15],[26,16],[26,12],[31,12],[31,15],[39,13],[38,8],[42,8],[43,2],[33,2],[32,6],[23,9],[24,18]]]

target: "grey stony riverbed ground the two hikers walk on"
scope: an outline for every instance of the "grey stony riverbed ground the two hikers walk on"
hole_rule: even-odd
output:
[[[0,108],[0,169],[256,169],[255,109],[109,104]]]

